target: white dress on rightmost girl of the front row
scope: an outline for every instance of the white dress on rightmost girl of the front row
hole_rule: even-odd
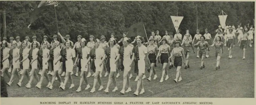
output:
[[[139,69],[139,74],[144,74],[145,73],[145,56],[146,54],[148,53],[148,49],[146,46],[144,45],[141,45],[139,47],[139,57],[140,57],[140,60],[138,61],[138,69]]]

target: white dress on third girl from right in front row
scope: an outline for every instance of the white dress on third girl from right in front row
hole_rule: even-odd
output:
[[[110,72],[116,72],[116,63],[115,58],[118,55],[118,49],[117,47],[110,48],[110,59],[109,59],[109,66],[110,66]]]

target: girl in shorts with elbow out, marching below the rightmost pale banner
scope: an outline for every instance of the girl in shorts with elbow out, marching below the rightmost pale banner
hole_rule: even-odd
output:
[[[230,32],[232,33],[232,30]],[[224,43],[221,42],[221,37],[220,36],[217,36],[216,40],[217,41],[214,42],[210,46],[211,47],[215,46],[215,56],[217,57],[216,70],[218,70],[218,69],[220,69],[219,62],[220,62],[220,57],[221,57],[221,55],[223,53],[223,45],[224,45]]]

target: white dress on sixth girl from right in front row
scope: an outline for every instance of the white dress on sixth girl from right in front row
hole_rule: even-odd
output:
[[[74,49],[66,49],[66,72],[73,73],[73,60],[72,58],[75,57],[75,50]]]

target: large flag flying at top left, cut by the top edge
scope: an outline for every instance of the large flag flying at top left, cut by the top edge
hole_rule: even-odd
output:
[[[32,13],[30,14],[30,25],[31,23],[37,20],[40,13],[42,13],[45,9],[49,8],[48,6],[54,5],[56,7],[58,6],[58,4],[59,3],[57,1],[41,1],[39,5],[35,9],[33,9]]]

